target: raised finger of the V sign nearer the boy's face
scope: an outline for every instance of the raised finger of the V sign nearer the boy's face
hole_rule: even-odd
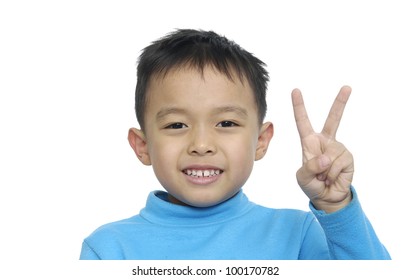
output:
[[[306,112],[302,93],[297,88],[292,91],[292,104],[296,127],[298,128],[300,139],[302,139],[314,133],[314,131]]]

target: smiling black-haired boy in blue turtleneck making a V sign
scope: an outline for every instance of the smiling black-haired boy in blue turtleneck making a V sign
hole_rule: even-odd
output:
[[[349,87],[321,133],[292,92],[303,150],[297,181],[312,210],[304,212],[256,205],[241,190],[273,136],[263,122],[262,61],[214,32],[177,30],[144,49],[137,76],[141,129],[128,140],[166,192],[97,229],[81,259],[390,258],[351,186],[353,157],[335,140]]]

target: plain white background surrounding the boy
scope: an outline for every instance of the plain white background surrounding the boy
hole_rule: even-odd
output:
[[[408,254],[409,8],[406,1],[2,1],[0,213],[6,260],[77,260],[96,227],[135,215],[161,187],[127,142],[136,60],[175,28],[214,30],[267,63],[275,136],[244,187],[308,209],[290,92],[321,130],[353,88],[338,140],[354,186],[395,260]],[[12,262],[13,263],[13,262]],[[34,265],[36,266],[36,265]],[[13,266],[10,265],[8,267]],[[17,268],[15,268],[17,269]]]

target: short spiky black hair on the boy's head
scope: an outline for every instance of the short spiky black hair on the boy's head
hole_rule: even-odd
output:
[[[258,120],[263,122],[266,114],[266,89],[269,74],[266,64],[235,42],[213,31],[177,29],[154,41],[143,49],[137,67],[135,111],[144,130],[144,115],[147,102],[147,86],[151,77],[165,76],[176,67],[190,66],[201,72],[206,66],[233,79],[232,71],[245,78],[254,91],[258,108]]]

